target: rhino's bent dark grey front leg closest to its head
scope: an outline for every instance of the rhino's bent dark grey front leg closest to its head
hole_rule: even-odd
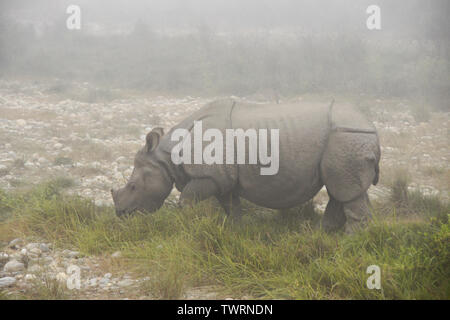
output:
[[[193,205],[218,193],[219,189],[211,179],[193,179],[188,182],[181,192],[180,203],[182,206]]]

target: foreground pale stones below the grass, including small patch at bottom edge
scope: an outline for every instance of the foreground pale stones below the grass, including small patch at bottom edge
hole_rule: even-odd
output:
[[[83,257],[76,250],[56,249],[51,243],[26,242],[21,238],[12,240],[1,250],[0,291],[4,290],[11,297],[155,298],[146,290],[146,283],[151,281],[149,277],[137,278],[114,266],[114,261],[122,258],[120,251],[107,257]],[[184,298],[219,297],[214,288],[205,286],[187,290]]]

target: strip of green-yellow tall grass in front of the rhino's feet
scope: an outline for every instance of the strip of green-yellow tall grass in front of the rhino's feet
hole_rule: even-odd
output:
[[[415,220],[375,215],[367,229],[346,236],[323,232],[311,205],[287,215],[247,205],[236,223],[208,202],[120,219],[52,183],[4,193],[3,201],[0,241],[40,237],[85,255],[120,250],[127,270],[149,277],[142,290],[158,298],[182,298],[201,285],[235,298],[450,298],[448,219],[431,221],[427,212]],[[381,290],[366,287],[373,264]]]

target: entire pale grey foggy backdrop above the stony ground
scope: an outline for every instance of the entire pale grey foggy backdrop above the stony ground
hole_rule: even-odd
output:
[[[70,4],[81,30],[66,27]],[[381,30],[366,27],[372,4]],[[409,97],[447,111],[449,14],[447,0],[2,0],[0,77],[106,96]]]

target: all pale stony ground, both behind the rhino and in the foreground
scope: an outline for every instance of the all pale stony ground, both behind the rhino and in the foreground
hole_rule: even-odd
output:
[[[77,86],[80,92],[96,92],[87,83]],[[213,99],[124,93],[105,102],[92,95],[68,99],[54,86],[2,80],[0,186],[14,190],[64,177],[73,182],[69,193],[111,205],[109,190],[130,176],[134,154],[143,146],[146,133],[154,126],[168,130]],[[412,173],[411,188],[448,199],[450,113],[431,112],[424,119],[406,100],[370,103],[368,113],[382,145],[381,181],[370,189],[371,198],[387,196],[391,173],[406,167]],[[326,201],[322,190],[315,205],[324,210]],[[77,293],[81,298],[151,298],[136,290],[148,279],[105,272],[104,264],[111,260],[114,256],[80,257],[70,248],[16,239],[0,247],[0,290],[20,293],[48,287],[51,281],[67,282],[67,268],[75,265],[84,275]],[[215,297],[208,292],[212,291],[196,289],[186,298]]]

